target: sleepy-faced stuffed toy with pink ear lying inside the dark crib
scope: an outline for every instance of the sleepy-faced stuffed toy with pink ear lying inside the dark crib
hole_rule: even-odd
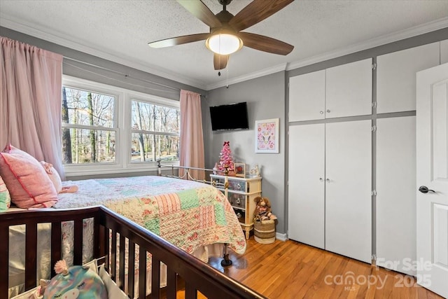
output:
[[[67,267],[65,260],[55,265],[57,275],[45,287],[43,299],[107,299],[106,286],[97,273],[87,266]]]

